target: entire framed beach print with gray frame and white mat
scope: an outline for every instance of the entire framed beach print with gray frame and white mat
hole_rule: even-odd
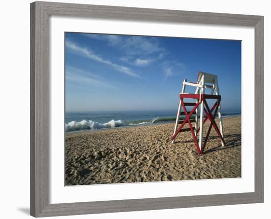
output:
[[[31,215],[264,201],[264,18],[31,3]]]

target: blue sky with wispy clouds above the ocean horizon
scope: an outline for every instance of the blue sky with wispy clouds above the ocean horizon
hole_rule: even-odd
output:
[[[66,111],[176,110],[199,71],[218,75],[222,111],[241,110],[241,41],[66,33],[65,65]]]

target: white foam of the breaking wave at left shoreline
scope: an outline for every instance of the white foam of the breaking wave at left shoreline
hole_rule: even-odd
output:
[[[122,120],[114,120],[112,119],[109,122],[99,123],[92,120],[82,120],[80,122],[71,121],[68,124],[65,124],[65,131],[79,131],[79,130],[87,130],[87,129],[102,129],[102,128],[115,128],[125,126],[125,122]]]

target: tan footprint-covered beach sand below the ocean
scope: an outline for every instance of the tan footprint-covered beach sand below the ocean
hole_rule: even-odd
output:
[[[223,128],[227,146],[212,128],[202,156],[191,132],[171,143],[174,123],[66,133],[66,185],[241,177],[241,116]]]

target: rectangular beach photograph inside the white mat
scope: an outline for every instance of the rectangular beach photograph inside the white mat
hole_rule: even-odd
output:
[[[241,48],[65,32],[65,185],[241,178]]]

